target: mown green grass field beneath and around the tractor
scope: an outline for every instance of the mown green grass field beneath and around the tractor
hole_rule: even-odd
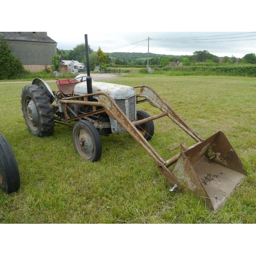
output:
[[[21,186],[0,191],[0,223],[255,223],[256,83],[227,76],[124,75],[106,80],[152,86],[203,138],[223,131],[245,166],[247,177],[218,212],[198,197],[170,193],[154,160],[130,135],[101,137],[96,163],[80,158],[72,128],[56,124],[47,138],[34,137],[23,119],[22,88],[31,83],[0,84],[1,130],[12,146]],[[48,82],[56,90],[55,82]],[[156,110],[139,105],[151,115]],[[155,121],[151,144],[164,157],[185,141],[167,119]]]

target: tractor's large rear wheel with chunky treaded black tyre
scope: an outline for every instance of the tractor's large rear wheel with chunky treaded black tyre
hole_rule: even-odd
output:
[[[37,85],[26,86],[22,90],[23,117],[29,131],[37,137],[45,137],[54,132],[54,114],[51,98]]]

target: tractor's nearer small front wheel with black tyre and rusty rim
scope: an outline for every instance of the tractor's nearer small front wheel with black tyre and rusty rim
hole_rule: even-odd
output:
[[[86,120],[78,121],[73,128],[73,144],[76,153],[92,162],[97,162],[102,153],[99,133],[92,123]]]

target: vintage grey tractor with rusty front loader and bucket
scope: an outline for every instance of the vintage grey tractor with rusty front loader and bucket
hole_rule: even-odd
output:
[[[149,86],[93,81],[87,40],[86,48],[87,76],[57,80],[57,92],[39,78],[23,89],[21,103],[29,131],[45,137],[53,134],[55,123],[75,123],[72,125],[74,148],[82,158],[94,162],[101,157],[100,135],[129,133],[153,158],[167,178],[170,191],[190,191],[217,211],[245,178],[243,164],[226,136],[218,132],[202,139]],[[137,110],[138,104],[145,103],[158,109],[159,114],[150,116]],[[160,156],[150,140],[154,136],[154,120],[162,117],[175,122],[196,143],[190,147],[180,143],[180,153],[168,159]]]

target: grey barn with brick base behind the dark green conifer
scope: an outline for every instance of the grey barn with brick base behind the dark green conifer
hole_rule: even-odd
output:
[[[37,72],[49,68],[51,57],[57,53],[57,42],[47,32],[0,32],[13,54],[26,70]]]

